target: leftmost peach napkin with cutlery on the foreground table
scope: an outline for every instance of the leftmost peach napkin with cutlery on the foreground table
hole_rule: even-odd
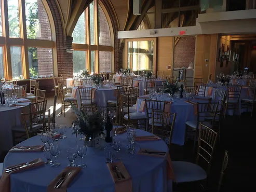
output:
[[[6,169],[9,169],[9,168],[12,168],[12,167],[16,167],[16,166],[22,167],[25,163],[26,162],[17,164],[15,166],[10,166],[10,167],[7,167]],[[17,172],[20,172],[20,171],[25,171],[27,169],[31,169],[31,168],[35,168],[35,167],[38,167],[38,166],[42,166],[44,163],[45,162],[41,158],[38,158],[38,159],[35,159],[33,161],[30,161],[28,166],[26,166],[26,167],[23,167],[23,168],[20,168],[18,170],[14,170],[14,171],[11,171],[11,172],[8,172],[8,173],[6,173],[4,171],[3,172],[3,176],[2,176],[2,178],[0,180],[0,191],[10,192],[10,174],[11,173],[17,173]]]

